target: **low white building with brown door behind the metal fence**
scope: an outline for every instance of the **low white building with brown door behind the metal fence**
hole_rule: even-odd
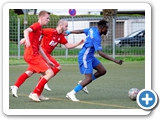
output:
[[[68,30],[77,30],[97,26],[98,21],[103,19],[103,17],[74,18],[74,21],[72,21],[71,18],[64,19],[68,21]],[[132,32],[145,29],[145,17],[117,16],[115,26],[115,38],[125,37],[131,34]],[[108,34],[110,34],[110,31],[108,32]],[[68,41],[70,43],[75,43],[80,39],[85,39],[85,37],[85,34],[71,34],[68,36]],[[108,36],[102,37],[102,40],[105,42],[103,44],[112,44],[112,41],[106,41],[107,37]]]

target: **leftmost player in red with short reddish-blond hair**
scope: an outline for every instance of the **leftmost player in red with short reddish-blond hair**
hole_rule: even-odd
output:
[[[26,40],[24,60],[36,73],[42,74],[41,79],[38,81],[36,87],[29,97],[35,102],[40,102],[39,96],[43,91],[44,85],[54,75],[51,69],[51,67],[54,67],[54,64],[48,59],[40,46],[42,26],[47,25],[49,21],[50,13],[47,11],[40,11],[38,15],[38,22],[33,23],[30,27],[24,30],[24,38]],[[42,58],[42,56],[45,60]]]

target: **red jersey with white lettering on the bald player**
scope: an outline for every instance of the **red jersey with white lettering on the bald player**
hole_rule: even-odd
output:
[[[58,43],[65,45],[68,43],[64,34],[58,34],[56,29],[46,28],[42,30],[43,38],[41,46],[45,53],[51,54]]]

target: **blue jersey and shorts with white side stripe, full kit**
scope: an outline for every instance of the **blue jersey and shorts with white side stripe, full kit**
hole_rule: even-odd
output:
[[[82,74],[92,74],[100,61],[94,57],[95,51],[102,50],[101,35],[98,28],[84,29],[86,41],[78,54],[79,69]]]

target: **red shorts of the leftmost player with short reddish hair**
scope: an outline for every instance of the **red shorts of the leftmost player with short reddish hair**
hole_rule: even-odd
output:
[[[41,73],[45,72],[50,68],[50,66],[42,59],[41,55],[24,55],[24,60],[29,64],[29,67],[27,70]]]

